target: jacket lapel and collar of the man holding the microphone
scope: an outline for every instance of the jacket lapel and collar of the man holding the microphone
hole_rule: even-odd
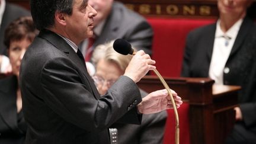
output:
[[[62,39],[62,37],[58,36],[56,33],[53,33],[49,30],[43,30],[40,32],[39,37],[42,37],[43,39],[46,39],[50,43],[53,44],[57,49],[61,50],[63,53],[65,53],[73,62],[75,62],[78,65],[78,68],[82,73],[84,74],[85,78],[89,82],[89,86],[92,89],[92,92],[94,93],[95,98],[100,98],[100,94],[98,94],[98,90],[94,85],[94,81],[92,80],[91,76],[89,75],[87,71],[87,67],[84,62],[78,57],[78,55],[75,53],[75,51],[72,49],[71,46],[69,46],[68,43],[66,43],[65,40]]]

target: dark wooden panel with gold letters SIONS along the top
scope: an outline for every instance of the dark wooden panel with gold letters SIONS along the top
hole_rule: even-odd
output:
[[[30,9],[29,0],[7,0]],[[117,0],[146,17],[217,18],[216,0]],[[256,18],[256,1],[248,9]]]

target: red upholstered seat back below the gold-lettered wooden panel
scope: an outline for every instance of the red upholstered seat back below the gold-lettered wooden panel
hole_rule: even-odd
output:
[[[154,37],[152,58],[162,76],[179,77],[187,34],[193,28],[214,23],[213,19],[147,18]],[[153,73],[151,73],[154,75]]]

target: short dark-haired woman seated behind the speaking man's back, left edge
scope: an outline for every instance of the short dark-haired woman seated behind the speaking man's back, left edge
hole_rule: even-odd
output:
[[[38,31],[31,17],[20,17],[5,30],[12,75],[0,79],[0,143],[24,143],[27,125],[24,121],[21,91],[18,85],[21,60]]]

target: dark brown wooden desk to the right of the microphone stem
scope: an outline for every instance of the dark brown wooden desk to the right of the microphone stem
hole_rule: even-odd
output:
[[[239,86],[216,86],[209,78],[165,78],[190,105],[190,143],[223,143],[235,124]],[[156,76],[145,76],[137,85],[147,92],[164,88]],[[180,136],[182,139],[182,136]]]

